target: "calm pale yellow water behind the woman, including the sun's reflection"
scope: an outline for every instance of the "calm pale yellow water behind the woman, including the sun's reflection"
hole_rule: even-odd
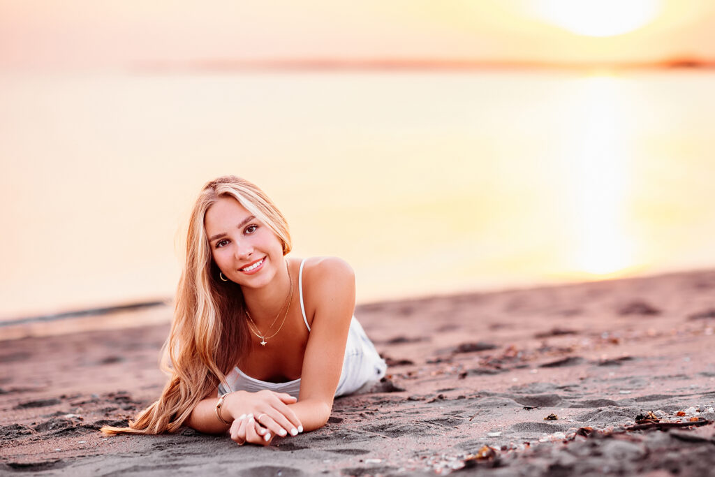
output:
[[[0,77],[0,318],[169,297],[239,174],[358,300],[715,265],[715,74]]]

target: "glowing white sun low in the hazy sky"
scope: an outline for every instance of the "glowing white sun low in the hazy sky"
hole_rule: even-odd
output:
[[[583,36],[616,36],[641,28],[663,9],[663,0],[534,0],[534,13]]]

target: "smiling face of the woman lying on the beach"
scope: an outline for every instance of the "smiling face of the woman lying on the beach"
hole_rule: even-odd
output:
[[[278,237],[233,197],[209,207],[204,229],[216,265],[242,287],[265,286],[285,267]]]

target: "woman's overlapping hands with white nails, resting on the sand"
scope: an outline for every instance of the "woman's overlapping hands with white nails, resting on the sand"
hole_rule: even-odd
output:
[[[235,391],[224,399],[222,415],[229,414],[231,421],[237,421],[242,415],[252,414],[255,422],[260,424],[256,426],[257,432],[240,432],[240,423],[234,423],[231,426],[231,438],[237,443],[267,444],[272,439],[265,439],[267,433],[259,433],[261,427],[267,429],[271,437],[285,437],[288,434],[296,436],[303,431],[297,415],[288,407],[288,404],[296,401],[290,394],[275,393],[271,390],[260,390],[257,393]]]

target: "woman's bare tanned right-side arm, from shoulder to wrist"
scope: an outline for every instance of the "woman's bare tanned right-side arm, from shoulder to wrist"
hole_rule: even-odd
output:
[[[325,426],[330,417],[355,310],[355,272],[350,265],[336,257],[321,257],[310,265],[304,269],[304,296],[314,313],[303,356],[300,399],[288,405],[306,431]]]

